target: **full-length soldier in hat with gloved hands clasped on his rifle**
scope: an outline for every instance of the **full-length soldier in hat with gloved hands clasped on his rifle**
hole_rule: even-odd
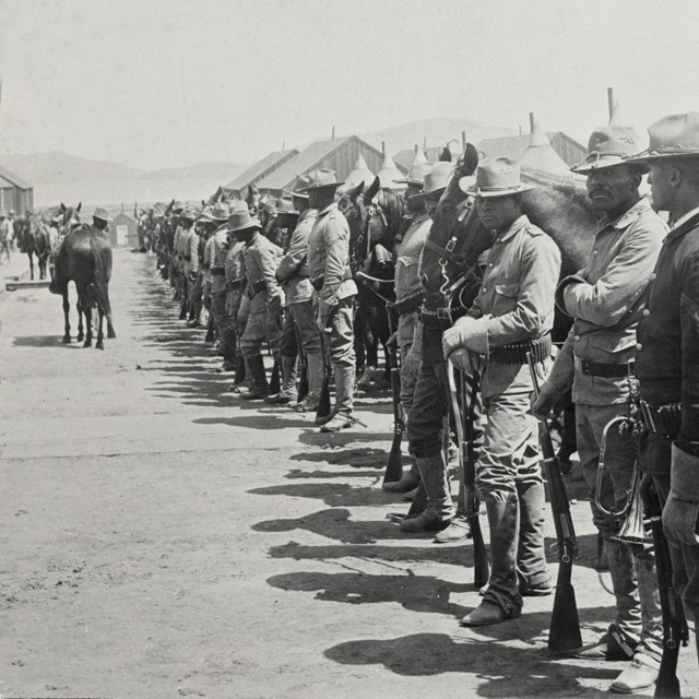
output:
[[[487,425],[476,466],[486,503],[493,567],[478,607],[461,623],[485,626],[517,618],[522,593],[550,594],[544,552],[544,483],[536,420],[529,412],[528,353],[542,371],[550,356],[554,291],[560,272],[556,244],[522,213],[519,164],[485,161],[467,193],[494,236],[483,286],[467,315],[442,336],[445,357],[469,369],[483,356]],[[543,371],[542,371],[543,372]]]

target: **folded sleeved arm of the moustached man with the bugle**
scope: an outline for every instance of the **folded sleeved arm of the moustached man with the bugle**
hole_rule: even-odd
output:
[[[655,266],[666,228],[662,221],[630,230],[619,253],[595,284],[573,275],[561,291],[565,310],[595,325],[615,325],[643,293]]]

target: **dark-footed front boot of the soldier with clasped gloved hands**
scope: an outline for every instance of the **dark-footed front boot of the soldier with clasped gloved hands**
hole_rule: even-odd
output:
[[[487,501],[493,566],[483,602],[461,619],[464,626],[487,626],[514,619],[522,613],[517,577],[520,529],[519,500],[508,494],[505,501]]]

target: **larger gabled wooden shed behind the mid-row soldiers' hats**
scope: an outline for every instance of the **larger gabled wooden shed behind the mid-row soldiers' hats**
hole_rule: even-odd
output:
[[[334,170],[340,181],[344,181],[362,155],[372,173],[378,173],[383,163],[381,151],[377,151],[356,135],[329,141],[317,141],[304,149],[281,167],[257,182],[261,192],[281,197],[284,190],[291,189],[299,175],[325,168]],[[401,171],[406,173],[405,168]]]

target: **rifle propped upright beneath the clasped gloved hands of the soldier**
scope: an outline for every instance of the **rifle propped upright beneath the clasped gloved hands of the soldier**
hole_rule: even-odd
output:
[[[464,502],[464,517],[469,522],[471,538],[473,540],[473,583],[482,588],[488,582],[489,566],[488,555],[485,550],[481,519],[478,517],[479,502],[476,495],[476,464],[473,450],[473,411],[477,383],[471,381],[471,405],[466,407],[466,386],[463,372],[461,375],[461,396],[464,403],[463,411],[459,407],[457,396],[457,382],[454,380],[457,368],[449,362],[447,365],[447,378],[449,380],[449,395],[451,396],[451,410],[454,415],[457,438],[459,439],[459,489]]]

